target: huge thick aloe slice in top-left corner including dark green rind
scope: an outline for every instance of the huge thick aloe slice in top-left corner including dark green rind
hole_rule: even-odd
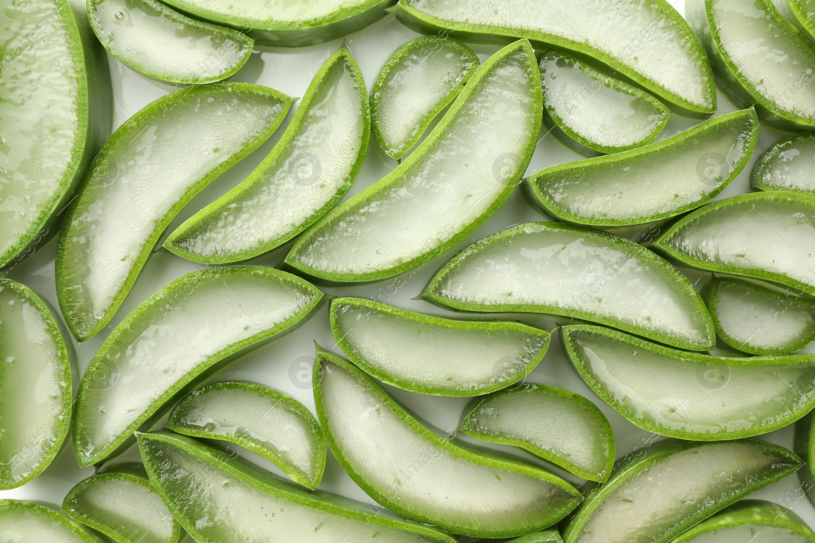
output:
[[[0,267],[59,230],[87,165],[110,134],[104,50],[72,2],[0,2]]]

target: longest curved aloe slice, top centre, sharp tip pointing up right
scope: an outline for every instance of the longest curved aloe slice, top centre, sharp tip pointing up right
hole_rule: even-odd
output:
[[[373,281],[465,239],[529,164],[543,111],[539,73],[526,40],[492,55],[421,146],[311,226],[285,263],[328,281]]]

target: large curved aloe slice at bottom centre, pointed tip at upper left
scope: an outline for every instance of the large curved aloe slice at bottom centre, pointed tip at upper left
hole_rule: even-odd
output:
[[[314,400],[328,445],[368,496],[407,519],[466,536],[547,528],[580,502],[548,471],[434,434],[356,366],[324,351]]]

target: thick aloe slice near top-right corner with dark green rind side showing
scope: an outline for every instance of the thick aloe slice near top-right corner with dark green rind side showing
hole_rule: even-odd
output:
[[[780,129],[815,127],[815,45],[771,0],[689,0],[685,16],[729,99]]]

